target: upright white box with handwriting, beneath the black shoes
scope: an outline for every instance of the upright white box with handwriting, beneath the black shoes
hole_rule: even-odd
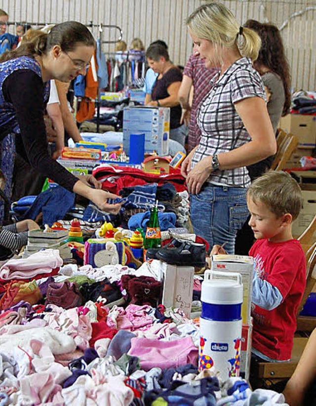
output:
[[[163,274],[162,304],[165,307],[178,307],[190,317],[194,267],[167,264]]]

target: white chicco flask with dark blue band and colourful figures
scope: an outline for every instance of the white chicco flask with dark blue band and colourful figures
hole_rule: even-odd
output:
[[[239,376],[242,292],[240,274],[205,272],[198,364],[200,370],[218,370],[223,381]]]

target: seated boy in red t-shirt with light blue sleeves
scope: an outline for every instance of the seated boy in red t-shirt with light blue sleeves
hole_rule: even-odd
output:
[[[302,207],[302,193],[288,173],[270,171],[247,190],[249,225],[256,242],[251,316],[252,353],[265,361],[291,358],[296,313],[306,284],[306,260],[292,237],[292,221]],[[212,253],[224,253],[215,245]]]

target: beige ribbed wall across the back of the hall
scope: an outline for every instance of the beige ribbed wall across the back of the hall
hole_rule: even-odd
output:
[[[223,0],[242,24],[248,18],[271,21],[282,29],[282,38],[292,71],[292,87],[316,88],[316,0]],[[161,39],[169,45],[174,63],[184,65],[192,41],[184,24],[201,0],[0,0],[9,21],[62,22],[118,25],[123,40],[139,37],[148,46]],[[290,18],[290,17],[293,18]],[[287,22],[287,24],[286,24]],[[10,27],[14,32],[14,27]],[[98,35],[98,30],[93,29]],[[118,31],[104,29],[104,38],[115,41]],[[113,51],[113,44],[104,44]]]

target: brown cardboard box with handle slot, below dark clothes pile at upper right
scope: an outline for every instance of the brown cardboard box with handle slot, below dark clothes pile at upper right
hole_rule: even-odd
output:
[[[279,127],[296,135],[299,141],[299,147],[315,148],[316,116],[288,114],[285,117],[281,117]]]

